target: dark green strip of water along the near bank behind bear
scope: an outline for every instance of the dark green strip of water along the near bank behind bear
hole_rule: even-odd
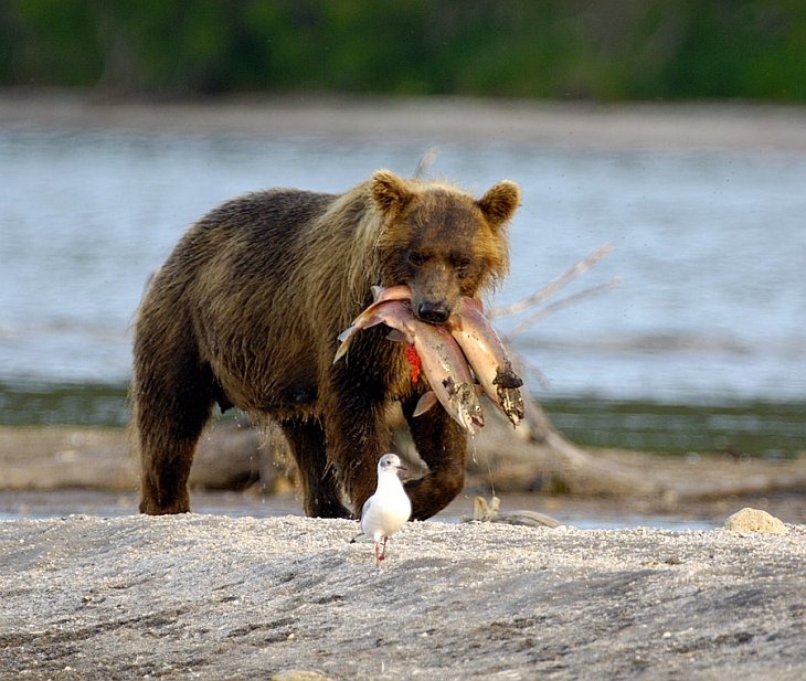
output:
[[[554,427],[583,446],[680,455],[724,451],[738,457],[789,458],[804,451],[806,405],[660,404],[597,397],[545,400]],[[33,384],[0,381],[0,425],[125,427],[126,385]],[[236,419],[237,409],[219,418]]]

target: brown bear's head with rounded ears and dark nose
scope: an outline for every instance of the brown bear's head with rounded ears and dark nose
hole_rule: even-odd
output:
[[[452,184],[379,170],[370,192],[383,220],[382,284],[407,285],[423,321],[446,321],[462,296],[477,296],[507,273],[506,224],[520,202],[515,182],[502,180],[476,200]]]

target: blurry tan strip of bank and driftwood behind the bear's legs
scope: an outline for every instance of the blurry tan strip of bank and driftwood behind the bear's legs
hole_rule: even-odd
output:
[[[641,499],[648,507],[669,511],[697,500],[806,491],[804,458],[736,461],[723,455],[683,458],[616,450],[590,453],[551,428],[539,406],[533,408],[540,440],[524,439],[503,417],[495,416],[491,408],[486,411],[490,414],[487,425],[470,444],[467,492]],[[407,433],[397,429],[396,419],[391,424],[397,451],[418,461]],[[201,444],[192,487],[244,489],[254,481],[252,488],[263,492],[287,490],[293,470],[286,473],[273,466],[267,446],[258,428],[218,426]],[[137,461],[127,455],[126,436],[119,430],[0,426],[2,490],[130,492],[137,483]]]

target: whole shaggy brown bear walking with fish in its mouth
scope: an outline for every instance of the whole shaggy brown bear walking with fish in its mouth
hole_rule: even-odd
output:
[[[406,284],[423,321],[447,320],[509,264],[506,223],[520,190],[480,199],[386,170],[343,194],[275,189],[229,201],[193,224],[152,279],[134,343],[134,426],[144,513],[190,509],[193,451],[215,402],[279,424],[308,515],[360,513],[388,451],[388,408],[401,403],[425,477],[406,483],[412,518],[462,490],[466,437],[442,408],[412,417],[401,343],[379,326],[333,363],[337,337],[372,301]]]

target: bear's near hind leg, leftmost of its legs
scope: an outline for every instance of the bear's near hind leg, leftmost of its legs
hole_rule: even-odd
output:
[[[141,513],[190,511],[188,478],[199,437],[212,414],[212,374],[197,361],[170,371],[136,362],[134,412],[140,456]]]

